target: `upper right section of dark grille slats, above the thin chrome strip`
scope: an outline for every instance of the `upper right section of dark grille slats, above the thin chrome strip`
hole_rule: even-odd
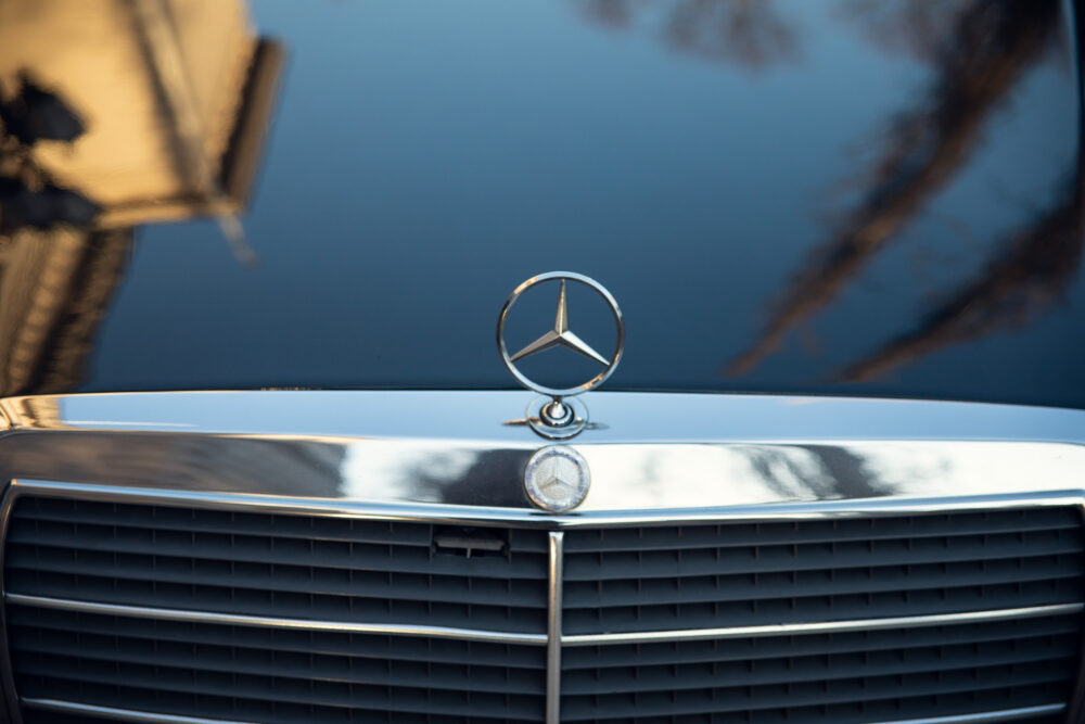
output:
[[[597,634],[1083,599],[1074,508],[565,535],[564,631]]]

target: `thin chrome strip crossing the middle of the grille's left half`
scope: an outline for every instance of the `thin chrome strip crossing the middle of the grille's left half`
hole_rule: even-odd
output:
[[[518,634],[476,628],[454,628],[448,626],[420,626],[395,623],[354,623],[349,621],[310,621],[307,619],[278,619],[243,613],[217,613],[215,611],[189,611],[171,608],[146,608],[120,604],[98,604],[66,598],[4,594],[4,602],[15,606],[34,606],[58,611],[76,613],[101,613],[104,615],[127,615],[139,619],[164,621],[188,621],[191,623],[218,623],[227,626],[266,626],[271,628],[296,628],[302,631],[332,631],[349,634],[378,634],[382,636],[431,636],[434,638],[457,638],[468,642],[490,644],[526,644],[546,646],[546,634]]]

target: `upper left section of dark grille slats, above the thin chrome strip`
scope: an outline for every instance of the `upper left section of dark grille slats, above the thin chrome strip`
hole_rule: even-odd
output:
[[[7,592],[275,618],[546,633],[546,534],[448,550],[424,523],[27,497]]]

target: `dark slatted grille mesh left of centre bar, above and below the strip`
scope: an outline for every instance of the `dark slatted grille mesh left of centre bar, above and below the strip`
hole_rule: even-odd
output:
[[[339,622],[546,632],[545,533],[21,498],[5,590]],[[459,537],[475,531],[451,531]],[[8,606],[24,698],[263,722],[539,721],[545,647]],[[62,693],[63,696],[60,696]],[[27,722],[71,721],[28,710]]]

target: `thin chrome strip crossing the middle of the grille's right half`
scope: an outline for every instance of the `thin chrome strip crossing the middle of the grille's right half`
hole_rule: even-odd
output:
[[[857,619],[852,621],[817,621],[810,623],[781,623],[763,626],[735,626],[731,628],[688,628],[674,631],[646,631],[625,634],[578,634],[562,636],[562,646],[604,646],[608,644],[651,644],[695,642],[749,636],[799,636],[802,634],[835,634],[846,631],[880,631],[883,628],[918,628],[920,626],[947,626],[952,624],[981,623],[1020,619],[1038,619],[1049,615],[1082,613],[1085,604],[1059,604],[961,613],[908,615],[894,619]]]

